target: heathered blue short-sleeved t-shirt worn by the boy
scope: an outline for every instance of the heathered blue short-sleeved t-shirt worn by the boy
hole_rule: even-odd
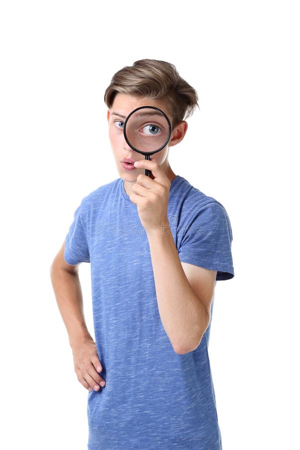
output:
[[[168,221],[181,261],[234,275],[224,207],[177,175]],[[87,394],[88,450],[220,450],[209,357],[174,351],[160,320],[148,239],[122,178],[86,195],[65,237],[69,264],[90,262],[94,335],[106,380]],[[211,302],[212,315],[213,299]]]

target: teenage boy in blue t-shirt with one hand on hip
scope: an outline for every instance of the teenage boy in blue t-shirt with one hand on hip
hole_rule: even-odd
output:
[[[119,177],[82,198],[51,265],[74,369],[88,389],[88,449],[220,450],[207,348],[215,283],[234,276],[231,227],[222,204],[168,160],[197,94],[174,65],[142,59],[113,75],[104,100]],[[139,106],[158,107],[171,122],[150,160],[124,138]],[[141,132],[153,125],[145,120]],[[192,149],[182,157],[194,163]],[[95,339],[81,262],[90,263]]]

